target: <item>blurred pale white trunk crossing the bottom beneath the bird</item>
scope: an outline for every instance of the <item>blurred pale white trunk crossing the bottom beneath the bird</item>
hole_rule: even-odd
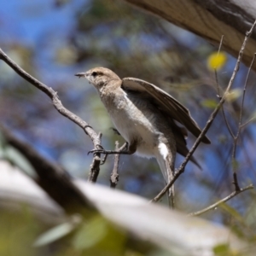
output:
[[[0,161],[1,211],[22,210],[24,204],[44,222],[59,224],[64,211],[37,183],[9,163]],[[229,229],[200,218],[189,218],[182,212],[148,204],[144,198],[101,185],[73,180],[73,184],[88,198],[96,211],[113,224],[156,247],[175,255],[214,255],[212,249],[225,244],[231,251],[242,252],[247,244]],[[82,211],[83,209],[81,209]],[[253,253],[247,252],[247,255]]]

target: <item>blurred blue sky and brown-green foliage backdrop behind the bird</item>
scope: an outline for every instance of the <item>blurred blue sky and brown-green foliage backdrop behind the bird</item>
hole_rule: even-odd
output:
[[[145,79],[182,102],[202,127],[235,67],[236,60],[223,52],[216,55],[218,48],[205,40],[118,0],[40,0],[37,3],[13,0],[3,3],[0,16],[1,48],[28,73],[56,90],[65,107],[89,122],[96,131],[102,131],[104,148],[113,148],[115,140],[120,143],[123,140],[110,129],[112,124],[96,91],[83,79],[75,78],[74,73],[103,66],[113,69],[120,78]],[[212,67],[218,67],[219,93]],[[41,154],[59,162],[73,176],[87,177],[92,159],[91,155],[87,156],[92,148],[90,139],[57,113],[47,96],[3,62],[0,62],[0,73],[1,122],[17,136],[32,143]],[[246,76],[247,68],[241,65],[230,100],[224,105],[234,133],[237,131],[241,91]],[[255,74],[251,73],[242,123],[255,116],[254,81]],[[254,125],[251,122],[242,129],[238,143],[236,161],[241,186],[254,183],[256,178]],[[195,153],[204,172],[189,164],[183,177],[177,181],[177,208],[184,212],[206,207],[234,189],[230,157],[233,141],[221,113],[213,122],[208,136],[212,144],[201,145]],[[193,140],[189,135],[189,147]],[[177,165],[181,161],[182,158],[177,157]],[[119,166],[118,189],[152,198],[163,186],[154,160],[121,156]],[[113,158],[109,157],[102,166],[99,183],[108,185],[112,168]],[[244,192],[228,203],[230,208],[236,209],[236,214],[226,207],[209,212],[205,217],[230,227],[239,227],[237,230],[247,233],[247,229],[255,225],[255,197],[252,191]],[[250,224],[241,224],[241,219],[245,218]],[[102,226],[104,224],[98,223],[99,230],[103,229]],[[3,229],[0,230],[0,236],[3,236]],[[80,246],[79,236],[86,232],[89,231],[82,229],[77,233],[73,240],[75,247]],[[101,237],[94,238],[95,241],[105,236],[101,232]],[[253,230],[249,234],[254,240]],[[3,244],[2,239],[0,244]]]

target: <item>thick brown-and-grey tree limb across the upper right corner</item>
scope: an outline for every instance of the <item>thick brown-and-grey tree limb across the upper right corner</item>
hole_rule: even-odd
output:
[[[125,0],[194,32],[218,46],[224,35],[223,49],[237,57],[245,33],[256,19],[253,0]],[[242,62],[249,66],[256,52],[256,32],[247,43]],[[256,65],[253,66],[256,70]]]

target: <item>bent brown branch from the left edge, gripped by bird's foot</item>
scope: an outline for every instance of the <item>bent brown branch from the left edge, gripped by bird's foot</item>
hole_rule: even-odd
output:
[[[97,146],[101,144],[101,137],[96,134],[96,131],[94,131],[90,125],[88,125],[83,119],[80,119],[79,116],[75,115],[71,111],[67,110],[67,108],[63,107],[55,90],[53,90],[46,84],[41,83],[40,81],[38,81],[38,79],[33,78],[29,73],[26,73],[26,71],[23,70],[19,65],[17,65],[15,61],[11,60],[9,56],[3,52],[2,49],[0,49],[0,59],[3,60],[7,65],[9,65],[9,67],[11,67],[16,73],[18,73],[20,77],[37,87],[39,90],[44,91],[44,93],[52,100],[55,108],[59,113],[67,117],[67,119],[72,120],[75,124],[79,125],[85,131],[85,133],[90,137],[94,148],[97,148]],[[94,175],[93,177],[89,178],[91,182],[96,182],[96,178],[99,174],[101,162],[99,160],[100,157],[101,154],[94,154],[94,159],[90,166],[90,173]]]

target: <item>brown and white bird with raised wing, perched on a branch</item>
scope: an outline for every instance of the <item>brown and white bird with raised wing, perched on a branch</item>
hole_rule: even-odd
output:
[[[165,182],[170,183],[175,173],[176,154],[189,153],[187,130],[195,137],[201,134],[189,110],[158,86],[142,79],[120,79],[106,67],[95,67],[75,76],[94,85],[115,129],[126,141],[122,150],[100,148],[90,152],[154,157]],[[207,136],[202,137],[201,142],[211,143]],[[193,156],[190,160],[200,166]],[[174,187],[169,189],[168,199],[174,207]]]

